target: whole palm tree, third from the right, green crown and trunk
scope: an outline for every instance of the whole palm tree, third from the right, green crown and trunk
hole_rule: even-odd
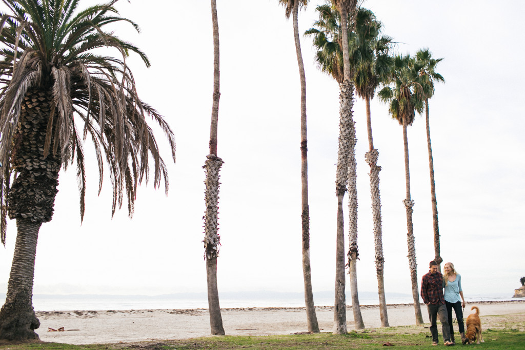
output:
[[[372,196],[372,217],[374,220],[374,245],[375,245],[375,269],[377,275],[377,292],[379,294],[379,309],[381,326],[388,327],[388,315],[386,310],[386,298],[384,288],[384,257],[382,242],[381,221],[381,197],[379,191],[379,172],[377,166],[379,151],[374,148],[372,137],[372,119],[370,100],[374,98],[375,90],[380,81],[385,78],[391,66],[391,56],[388,50],[392,44],[392,38],[380,35],[382,24],[377,21],[375,15],[364,8],[360,8],[356,16],[356,39],[358,50],[354,55],[355,67],[354,81],[355,91],[365,101],[366,126],[368,132],[369,151],[365,154],[365,161],[370,166],[370,191]],[[352,52],[352,51],[351,51]]]

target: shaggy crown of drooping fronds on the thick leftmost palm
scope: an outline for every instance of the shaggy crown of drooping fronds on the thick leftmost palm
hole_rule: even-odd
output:
[[[16,177],[13,164],[15,133],[24,115],[24,99],[39,92],[49,100],[45,145],[38,157],[52,153],[64,168],[76,160],[83,218],[85,165],[82,144],[90,138],[99,164],[99,193],[103,160],[106,159],[113,186],[112,214],[121,207],[125,191],[130,216],[137,185],[148,181],[153,159],[154,187],[164,179],[165,163],[146,115],[163,129],[173,160],[173,132],[163,117],[142,102],[125,59],[141,50],[105,30],[112,23],[125,22],[137,31],[132,20],[120,17],[113,6],[118,0],[79,9],[79,0],[2,0],[0,12],[0,176],[2,217],[8,207],[10,179]],[[117,57],[96,53],[99,48],[116,49]],[[105,50],[104,52],[107,52]],[[119,58],[120,57],[120,58]],[[17,129],[18,128],[18,129]],[[79,129],[81,130],[79,132]],[[36,157],[37,155],[35,155]],[[4,222],[3,221],[3,222]],[[5,225],[2,231],[5,233]]]

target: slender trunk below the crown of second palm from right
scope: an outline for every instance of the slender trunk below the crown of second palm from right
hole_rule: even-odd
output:
[[[423,324],[421,314],[421,305],[419,305],[419,292],[417,286],[417,264],[416,264],[416,247],[414,240],[414,228],[412,225],[412,207],[414,201],[410,196],[410,170],[408,166],[408,138],[406,135],[406,118],[403,117],[403,142],[405,146],[405,181],[406,181],[406,199],[403,201],[406,208],[406,226],[407,226],[407,245],[408,245],[408,266],[410,268],[410,277],[412,282],[412,297],[414,298],[414,311],[416,324]]]

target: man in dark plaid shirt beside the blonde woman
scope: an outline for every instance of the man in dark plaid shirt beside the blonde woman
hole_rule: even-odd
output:
[[[437,345],[437,316],[443,330],[443,342],[445,345],[454,345],[450,342],[450,327],[448,326],[447,308],[443,297],[443,275],[437,271],[437,263],[430,261],[430,271],[421,279],[421,296],[428,309],[430,320],[430,333],[432,333],[432,345]]]

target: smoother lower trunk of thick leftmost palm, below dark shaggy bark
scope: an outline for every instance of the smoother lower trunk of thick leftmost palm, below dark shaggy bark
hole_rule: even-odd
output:
[[[24,341],[38,339],[35,330],[40,321],[33,308],[33,277],[40,222],[17,219],[13,265],[7,285],[7,297],[0,310],[0,339]]]

